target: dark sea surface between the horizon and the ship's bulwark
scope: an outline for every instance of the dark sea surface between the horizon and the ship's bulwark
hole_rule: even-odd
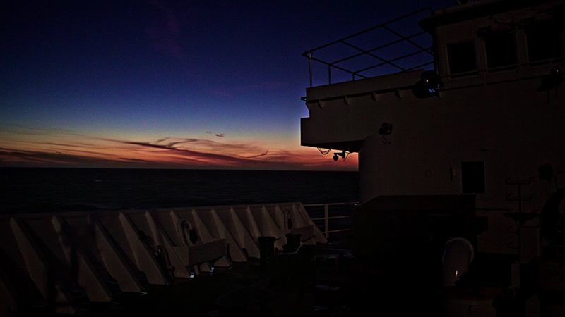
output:
[[[0,213],[358,200],[357,172],[0,168]]]

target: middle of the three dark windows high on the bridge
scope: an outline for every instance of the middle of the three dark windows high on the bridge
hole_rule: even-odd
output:
[[[484,35],[484,48],[487,51],[487,68],[513,66],[497,70],[516,68],[516,40],[513,32],[492,32]]]

